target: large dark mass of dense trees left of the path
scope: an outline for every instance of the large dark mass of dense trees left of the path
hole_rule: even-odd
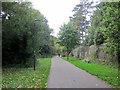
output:
[[[51,29],[31,3],[3,2],[2,10],[9,15],[2,20],[3,65],[25,64],[34,51],[41,57],[52,54]]]

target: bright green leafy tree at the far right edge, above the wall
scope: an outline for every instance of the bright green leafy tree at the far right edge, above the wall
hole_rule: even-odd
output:
[[[120,32],[119,32],[119,2],[101,2],[98,8],[103,13],[102,30],[106,39],[107,52],[109,54],[118,55],[119,54],[119,42],[120,42]]]

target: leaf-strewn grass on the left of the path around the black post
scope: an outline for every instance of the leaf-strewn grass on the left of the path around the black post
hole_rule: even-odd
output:
[[[3,68],[2,88],[45,88],[51,58],[39,58],[36,70],[31,68]]]

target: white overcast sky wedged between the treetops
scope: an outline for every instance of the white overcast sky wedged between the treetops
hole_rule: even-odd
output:
[[[53,35],[57,37],[59,28],[69,21],[73,15],[73,8],[80,0],[30,0],[33,7],[38,9],[48,20],[49,27],[54,30]]]

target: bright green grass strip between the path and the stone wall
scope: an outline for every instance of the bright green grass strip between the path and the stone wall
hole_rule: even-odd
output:
[[[110,85],[116,88],[118,87],[120,88],[119,81],[118,81],[119,80],[118,69],[110,68],[108,66],[99,65],[99,64],[82,62],[75,58],[69,58],[69,60],[67,60],[66,57],[62,57],[62,59],[74,64],[75,66],[89,72],[92,75],[97,76],[98,78],[106,81]]]

